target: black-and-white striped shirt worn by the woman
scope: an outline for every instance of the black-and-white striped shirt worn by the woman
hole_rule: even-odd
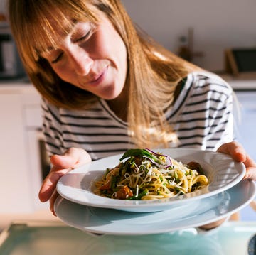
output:
[[[46,100],[41,105],[49,155],[80,147],[96,160],[134,147],[127,123],[104,99],[86,110],[58,108]],[[233,90],[210,72],[189,74],[181,94],[165,114],[178,135],[178,147],[215,151],[233,140]]]

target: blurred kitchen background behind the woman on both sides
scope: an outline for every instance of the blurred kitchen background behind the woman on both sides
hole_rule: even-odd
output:
[[[256,159],[256,59],[233,75],[225,50],[256,50],[255,0],[122,0],[135,23],[169,50],[217,72],[235,89],[242,109],[238,139]],[[40,97],[23,72],[0,0],[0,229],[13,219],[53,219],[38,190],[48,170]],[[241,220],[256,220],[247,206]]]

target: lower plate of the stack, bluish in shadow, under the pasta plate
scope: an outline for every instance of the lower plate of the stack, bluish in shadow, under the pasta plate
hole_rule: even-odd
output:
[[[198,227],[228,217],[249,204],[255,193],[255,183],[242,180],[229,190],[198,200],[192,207],[183,205],[162,212],[144,213],[88,207],[59,196],[55,201],[55,212],[65,224],[85,232],[159,234]]]

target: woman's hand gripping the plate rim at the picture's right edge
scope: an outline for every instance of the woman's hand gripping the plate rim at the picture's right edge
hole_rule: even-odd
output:
[[[246,168],[245,179],[256,180],[256,163],[247,155],[240,143],[235,141],[224,143],[217,151],[230,155],[235,161],[244,163]]]

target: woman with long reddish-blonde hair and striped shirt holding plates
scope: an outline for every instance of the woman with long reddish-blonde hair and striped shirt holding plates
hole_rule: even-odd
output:
[[[255,174],[230,143],[230,86],[135,28],[119,0],[10,0],[9,19],[43,97],[53,167],[39,197],[52,211],[61,175],[132,147],[218,150]]]

